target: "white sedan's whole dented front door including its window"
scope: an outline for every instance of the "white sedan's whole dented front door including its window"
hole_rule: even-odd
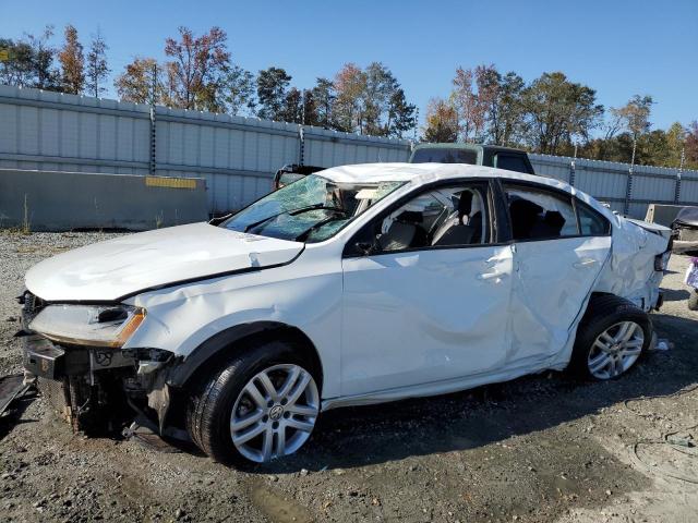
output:
[[[474,184],[422,194],[394,211],[394,221],[382,222],[377,252],[345,256],[342,396],[506,365],[513,250],[492,244],[486,232],[472,234],[488,223],[481,221],[485,194]],[[461,219],[456,216],[457,227],[441,235],[448,222],[438,217],[450,211]],[[420,229],[426,245],[416,246]]]

